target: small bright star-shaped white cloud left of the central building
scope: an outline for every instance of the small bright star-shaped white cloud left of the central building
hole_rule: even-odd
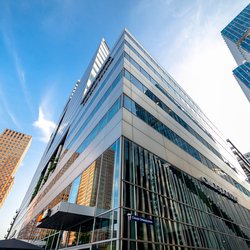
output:
[[[45,113],[43,112],[43,108],[40,106],[38,119],[33,123],[33,126],[40,129],[42,133],[42,137],[40,138],[41,141],[48,142],[51,133],[56,127],[56,124],[53,121],[50,121],[45,118]]]

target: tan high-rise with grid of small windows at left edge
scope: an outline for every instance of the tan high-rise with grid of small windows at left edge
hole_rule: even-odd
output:
[[[31,143],[31,136],[10,129],[0,134],[0,207],[13,183],[14,175]]]

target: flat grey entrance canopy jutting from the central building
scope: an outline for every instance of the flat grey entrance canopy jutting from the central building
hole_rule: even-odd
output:
[[[94,218],[95,207],[86,207],[65,201],[53,207],[45,219],[37,223],[38,228],[66,230],[80,222]]]

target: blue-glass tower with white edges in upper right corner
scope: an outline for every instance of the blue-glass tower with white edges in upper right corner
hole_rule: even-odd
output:
[[[233,74],[250,102],[250,4],[240,12],[221,34],[239,65]]]

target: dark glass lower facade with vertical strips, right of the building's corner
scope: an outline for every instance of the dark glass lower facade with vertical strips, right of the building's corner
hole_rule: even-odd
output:
[[[122,187],[122,249],[250,248],[249,210],[127,139]]]

